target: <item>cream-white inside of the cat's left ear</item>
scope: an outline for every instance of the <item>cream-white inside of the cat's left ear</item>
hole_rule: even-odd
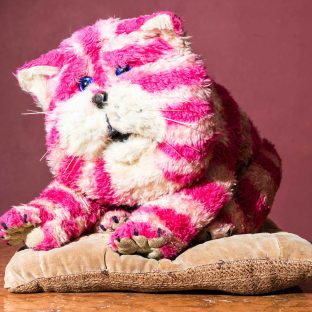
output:
[[[36,98],[37,104],[42,110],[46,110],[51,100],[48,80],[58,72],[58,67],[38,65],[22,68],[17,71],[16,76],[21,88]]]

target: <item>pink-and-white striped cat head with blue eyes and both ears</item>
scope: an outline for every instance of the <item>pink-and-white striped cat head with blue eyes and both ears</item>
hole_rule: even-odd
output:
[[[140,136],[192,160],[212,136],[211,81],[170,12],[99,20],[19,68],[17,78],[46,113],[50,150],[94,159]]]

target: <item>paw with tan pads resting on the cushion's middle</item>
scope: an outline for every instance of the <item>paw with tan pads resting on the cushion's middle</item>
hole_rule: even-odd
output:
[[[126,222],[111,235],[110,244],[120,254],[139,253],[161,259],[166,253],[169,235],[161,228],[145,222]]]

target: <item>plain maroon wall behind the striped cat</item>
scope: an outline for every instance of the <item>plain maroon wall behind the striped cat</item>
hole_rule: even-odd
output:
[[[272,218],[312,240],[312,1],[1,0],[0,212],[32,199],[48,183],[43,119],[20,91],[15,68],[96,19],[173,10],[193,49],[283,158]]]

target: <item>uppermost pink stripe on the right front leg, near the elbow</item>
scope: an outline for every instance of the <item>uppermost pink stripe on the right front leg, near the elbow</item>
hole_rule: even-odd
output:
[[[217,214],[231,199],[231,193],[215,182],[207,183],[207,181],[203,181],[197,186],[185,189],[183,192],[202,203],[206,211],[211,215]]]

